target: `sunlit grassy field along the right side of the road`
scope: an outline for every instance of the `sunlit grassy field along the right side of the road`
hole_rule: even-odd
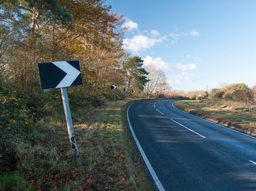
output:
[[[240,132],[256,135],[256,105],[212,100],[175,102],[177,108]]]

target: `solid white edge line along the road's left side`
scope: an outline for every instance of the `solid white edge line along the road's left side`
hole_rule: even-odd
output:
[[[130,104],[130,105],[129,105],[129,107],[128,107],[128,109],[127,109],[127,112],[126,112],[127,121],[128,121],[128,124],[129,124],[130,132],[131,132],[132,135],[133,135],[133,139],[134,139],[134,141],[135,141],[137,147],[139,148],[140,154],[141,154],[141,156],[143,157],[143,159],[144,159],[144,161],[145,161],[145,163],[146,163],[146,165],[147,165],[147,169],[149,169],[150,174],[151,174],[153,180],[155,181],[158,190],[160,190],[160,191],[165,191],[165,189],[163,188],[162,183],[160,182],[160,180],[158,179],[158,177],[157,177],[157,175],[156,175],[156,172],[153,170],[153,168],[152,168],[152,166],[151,166],[151,164],[150,164],[150,162],[149,162],[149,159],[147,159],[146,154],[145,154],[144,151],[143,151],[143,148],[140,146],[140,143],[139,143],[138,139],[136,138],[136,135],[135,135],[135,133],[134,133],[134,131],[133,131],[132,125],[130,124],[128,111],[129,111],[129,108],[130,108],[131,105],[133,105],[133,104]]]

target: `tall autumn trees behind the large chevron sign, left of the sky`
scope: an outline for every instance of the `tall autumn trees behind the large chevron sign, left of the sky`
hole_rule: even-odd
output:
[[[78,59],[88,99],[110,96],[110,85],[143,89],[143,60],[122,49],[122,16],[101,0],[10,0],[0,3],[0,86],[38,92],[37,63]],[[121,97],[123,94],[118,94]]]

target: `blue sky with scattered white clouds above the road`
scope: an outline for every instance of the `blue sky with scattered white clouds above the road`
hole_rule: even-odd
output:
[[[124,48],[166,72],[172,89],[256,84],[256,1],[107,0],[124,17]]]

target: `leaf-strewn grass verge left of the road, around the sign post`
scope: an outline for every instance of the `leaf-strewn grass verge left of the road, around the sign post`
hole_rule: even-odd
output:
[[[71,109],[79,169],[64,111],[26,131],[2,130],[0,190],[150,190],[127,128],[124,111],[129,103]]]

